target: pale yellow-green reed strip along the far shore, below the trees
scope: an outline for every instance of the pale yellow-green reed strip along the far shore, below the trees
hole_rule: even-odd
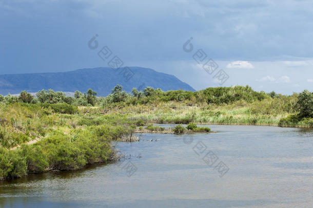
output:
[[[130,120],[142,119],[153,123],[273,125],[292,113],[284,110],[280,100],[266,99],[247,103],[238,101],[230,105],[187,104],[167,102],[138,104],[136,106],[107,108],[108,114],[122,114]]]

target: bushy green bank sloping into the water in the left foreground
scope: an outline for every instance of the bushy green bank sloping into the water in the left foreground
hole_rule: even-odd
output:
[[[0,106],[0,180],[75,170],[110,160],[110,142],[135,129],[123,116],[77,107],[71,114],[61,114],[60,108],[54,107],[23,103]]]

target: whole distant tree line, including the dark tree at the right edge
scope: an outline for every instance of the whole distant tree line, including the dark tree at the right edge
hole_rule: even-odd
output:
[[[297,102],[292,103],[292,98]],[[284,99],[287,100],[288,108],[295,109],[299,112],[299,118],[313,117],[313,92],[304,90],[301,93],[294,93],[291,96],[283,96],[275,91],[265,93],[264,91],[254,91],[249,86],[234,87],[209,87],[199,91],[154,89],[146,87],[143,91],[133,88],[131,92],[123,90],[121,85],[116,85],[111,93],[106,97],[97,97],[97,92],[88,89],[85,93],[75,91],[74,96],[66,96],[62,91],[41,90],[36,93],[36,97],[29,92],[22,91],[18,97],[0,95],[2,103],[32,103],[32,104],[57,104],[66,103],[74,106],[103,106],[103,105],[136,105],[149,104],[155,102],[185,102],[185,103],[208,103],[216,105],[232,104],[237,101],[255,102],[264,99]],[[290,100],[288,103],[288,99]]]

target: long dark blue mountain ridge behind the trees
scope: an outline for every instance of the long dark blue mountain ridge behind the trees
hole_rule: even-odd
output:
[[[191,86],[174,75],[150,68],[125,67],[117,70],[100,67],[66,72],[2,74],[0,94],[16,94],[22,90],[37,92],[42,89],[85,92],[91,88],[98,96],[107,96],[116,84],[122,85],[126,91],[131,91],[133,87],[143,90],[147,86],[161,88],[164,91],[178,89],[194,91]]]

